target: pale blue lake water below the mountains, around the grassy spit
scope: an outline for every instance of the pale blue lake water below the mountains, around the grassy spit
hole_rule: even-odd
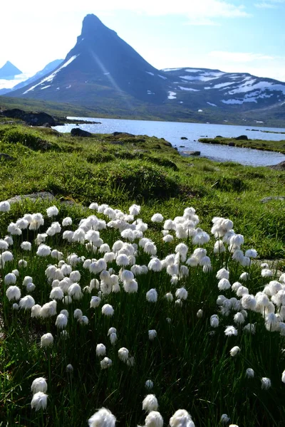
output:
[[[268,166],[285,161],[285,155],[277,152],[260,151],[256,149],[228,147],[219,144],[202,144],[198,142],[200,137],[214,138],[217,135],[223,137],[238,137],[247,135],[251,139],[285,140],[285,135],[264,133],[260,130],[273,132],[285,132],[285,129],[273,127],[250,127],[259,130],[254,132],[248,126],[209,125],[202,123],[180,122],[155,122],[147,120],[119,120],[91,117],[68,117],[71,120],[89,120],[101,122],[101,125],[79,125],[81,129],[92,133],[128,132],[134,135],[148,135],[165,138],[173,147],[181,151],[199,151],[202,157],[217,160],[219,162],[239,162],[251,166]],[[71,132],[74,125],[56,126],[59,132]],[[182,140],[181,137],[187,137]],[[285,144],[285,142],[284,142]],[[184,146],[184,147],[181,147]]]

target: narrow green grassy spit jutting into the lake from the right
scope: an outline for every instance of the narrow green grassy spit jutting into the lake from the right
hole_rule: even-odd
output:
[[[198,141],[204,142],[205,144],[233,145],[234,147],[254,148],[261,149],[263,151],[268,150],[285,154],[285,139],[282,139],[281,141],[265,141],[264,139],[235,139],[216,137],[200,138]]]

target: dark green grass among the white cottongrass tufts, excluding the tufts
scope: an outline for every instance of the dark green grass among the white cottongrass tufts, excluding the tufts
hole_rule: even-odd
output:
[[[71,215],[73,225],[68,227],[76,230],[81,218],[94,211],[83,211],[80,206],[66,207],[59,203],[59,214],[47,218],[46,203],[23,204],[12,206],[9,213],[1,214],[1,222],[21,217],[25,213],[43,212],[45,224],[38,232],[47,230],[52,221],[62,221],[63,217]],[[185,207],[187,204],[185,204]],[[115,206],[113,206],[115,207]],[[99,218],[108,218],[97,214]],[[183,214],[180,211],[179,214]],[[197,212],[199,214],[199,212]],[[145,220],[149,212],[147,206],[142,207],[140,217]],[[172,216],[165,216],[169,218]],[[204,224],[199,226],[204,228]],[[175,253],[177,243],[184,241],[189,246],[188,256],[197,247],[191,239],[178,239],[172,243],[163,243],[160,230],[162,225],[151,223],[144,233],[157,244],[157,256],[161,260],[167,254]],[[240,231],[234,223],[237,233]],[[172,233],[175,236],[175,233]],[[2,235],[4,236],[4,235]],[[14,236],[11,251],[14,260],[7,262],[1,270],[1,277],[18,267],[18,261],[25,259],[26,268],[19,268],[19,278],[16,285],[21,288],[22,297],[26,288],[21,285],[24,277],[30,275],[36,290],[33,295],[36,304],[48,302],[51,283],[48,283],[45,270],[49,264],[57,261],[51,256],[42,258],[36,255],[36,245],[33,243],[30,253],[23,253],[21,241],[27,239],[33,242],[36,233],[23,231],[22,236]],[[100,231],[100,237],[112,247],[121,238],[119,231],[107,228]],[[124,239],[123,239],[124,240]],[[138,240],[136,240],[138,243]],[[159,402],[159,411],[165,419],[165,426],[178,408],[185,408],[192,415],[195,426],[212,427],[219,425],[222,413],[227,413],[232,422],[239,426],[265,427],[281,426],[285,412],[284,384],[281,383],[281,373],[284,370],[284,337],[279,332],[266,331],[260,312],[248,310],[247,322],[256,325],[256,334],[247,334],[243,326],[237,327],[237,337],[225,337],[224,329],[233,325],[233,316],[237,310],[230,310],[229,315],[219,314],[219,327],[214,329],[209,325],[209,318],[219,312],[216,304],[218,295],[227,298],[237,297],[232,290],[220,291],[215,277],[217,270],[226,263],[230,271],[231,284],[239,280],[244,271],[235,263],[229,252],[214,255],[212,246],[214,238],[205,245],[212,260],[212,271],[203,273],[202,267],[190,268],[186,278],[180,278],[177,285],[170,284],[171,276],[163,269],[159,273],[149,271],[147,275],[138,275],[138,292],[128,294],[123,290],[122,283],[119,293],[111,292],[103,295],[100,307],[90,308],[90,298],[98,295],[98,290],[84,292],[81,300],[73,300],[69,305],[57,303],[57,314],[66,309],[69,312],[66,331],[68,338],[63,339],[61,331],[55,326],[56,316],[48,318],[31,318],[30,311],[12,310],[13,301],[5,296],[8,285],[1,286],[1,317],[3,319],[1,335],[0,358],[0,426],[87,426],[88,418],[97,408],[105,406],[118,418],[118,426],[142,425],[145,415],[142,411],[142,399],[147,393],[154,393]],[[46,244],[51,248],[63,251],[64,259],[68,254],[90,258],[92,255],[84,245],[79,243],[67,244],[61,235],[48,237]],[[245,236],[244,248],[249,247]],[[95,254],[100,258],[101,254]],[[142,248],[138,249],[136,263],[147,265],[150,255]],[[185,264],[183,260],[180,261]],[[108,263],[118,274],[120,267],[115,262]],[[127,267],[128,268],[128,267]],[[130,268],[130,267],[129,267]],[[73,270],[81,273],[79,281],[81,288],[89,285],[93,275],[80,262]],[[269,279],[261,278],[260,269],[252,266],[246,268],[250,279],[244,285],[250,293],[261,291]],[[182,306],[175,300],[167,302],[164,295],[176,288],[187,289],[187,300]],[[145,293],[150,288],[158,292],[157,302],[147,302]],[[103,304],[114,307],[113,317],[105,317],[101,313]],[[73,310],[80,308],[83,315],[88,317],[88,325],[80,325],[73,319]],[[202,318],[198,318],[197,310],[203,310]],[[168,322],[167,318],[171,321]],[[110,344],[108,329],[115,327],[118,341]],[[148,330],[156,330],[157,337],[150,341]],[[53,347],[40,347],[41,336],[51,332],[54,337]],[[109,369],[100,369],[100,358],[95,355],[98,343],[105,344],[106,355],[112,359]],[[237,357],[230,357],[229,350],[235,345],[241,349]],[[128,367],[118,359],[118,349],[126,347],[130,355],[135,357],[135,365]],[[73,365],[73,374],[66,373],[67,364]],[[246,379],[245,370],[251,367],[255,371],[254,379]],[[31,383],[38,376],[44,376],[48,383],[48,406],[45,411],[31,410]],[[261,377],[269,377],[272,387],[269,391],[261,390]],[[152,379],[154,388],[145,389],[145,381]]]

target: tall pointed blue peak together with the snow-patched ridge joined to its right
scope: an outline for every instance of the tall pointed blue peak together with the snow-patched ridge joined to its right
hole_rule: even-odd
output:
[[[283,120],[285,83],[207,68],[157,70],[90,14],[65,60],[9,96],[70,102],[95,108],[101,116],[200,122],[237,122],[239,117],[240,123],[253,125],[265,123],[266,112]]]

